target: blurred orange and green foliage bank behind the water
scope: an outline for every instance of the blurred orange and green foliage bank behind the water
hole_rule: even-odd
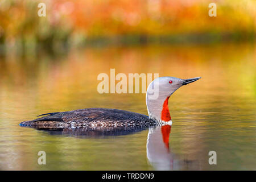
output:
[[[46,17],[38,4],[46,3]],[[209,3],[217,16],[210,17]],[[0,2],[0,45],[24,51],[84,44],[251,41],[256,2],[203,0],[8,0]]]

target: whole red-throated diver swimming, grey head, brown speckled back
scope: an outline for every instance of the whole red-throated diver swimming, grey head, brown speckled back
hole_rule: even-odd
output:
[[[65,127],[133,127],[152,126],[156,124],[171,125],[168,99],[183,85],[199,80],[200,77],[180,79],[159,77],[147,88],[146,104],[148,116],[118,109],[88,108],[73,111],[47,113],[32,121],[24,121],[20,126],[65,128]],[[41,115],[39,115],[41,116]]]

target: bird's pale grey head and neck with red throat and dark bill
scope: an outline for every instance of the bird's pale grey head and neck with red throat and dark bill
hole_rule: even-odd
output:
[[[200,78],[180,79],[175,77],[159,77],[153,80],[148,85],[146,94],[149,117],[159,122],[171,123],[171,115],[168,109],[169,97],[181,86],[190,84]]]

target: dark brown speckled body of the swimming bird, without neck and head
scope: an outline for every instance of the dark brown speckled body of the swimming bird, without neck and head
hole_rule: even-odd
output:
[[[59,113],[48,113],[46,117],[20,123],[20,125],[47,126],[55,128],[132,127],[152,126],[154,124],[155,121],[150,119],[147,115],[106,108],[87,108]]]

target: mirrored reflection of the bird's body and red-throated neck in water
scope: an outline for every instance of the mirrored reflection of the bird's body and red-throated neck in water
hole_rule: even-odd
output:
[[[29,127],[29,126],[26,126]],[[129,135],[148,129],[147,135],[147,159],[155,170],[187,170],[199,169],[195,160],[180,158],[171,152],[169,138],[171,125],[163,126],[133,126],[133,127],[96,127],[96,128],[47,128],[33,127],[40,131],[46,131],[50,135],[63,135],[78,138],[105,138],[118,135]]]

